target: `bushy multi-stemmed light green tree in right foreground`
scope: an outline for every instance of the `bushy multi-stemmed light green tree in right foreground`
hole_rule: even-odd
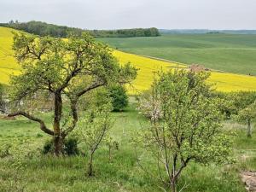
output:
[[[156,104],[151,125],[142,130],[139,141],[156,158],[160,180],[172,192],[191,160],[221,163],[230,154],[229,140],[221,132],[218,99],[206,83],[208,76],[180,70],[160,73],[153,84],[150,102]]]

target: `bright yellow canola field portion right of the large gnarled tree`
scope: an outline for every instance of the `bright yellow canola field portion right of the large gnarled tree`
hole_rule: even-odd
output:
[[[129,86],[130,93],[137,90],[147,90],[154,79],[154,72],[159,70],[167,71],[172,68],[187,68],[183,64],[169,61],[159,61],[139,55],[127,54],[114,51],[120,63],[131,61],[131,64],[139,69],[137,79]],[[214,84],[219,91],[256,90],[256,77],[234,73],[211,72],[209,82]]]

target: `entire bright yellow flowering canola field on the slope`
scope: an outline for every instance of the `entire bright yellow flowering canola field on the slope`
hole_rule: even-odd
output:
[[[0,83],[2,84],[9,84],[9,74],[20,73],[20,67],[12,56],[12,31],[15,30],[0,27]],[[130,61],[131,65],[139,69],[137,79],[127,87],[130,94],[137,94],[139,91],[148,90],[157,71],[168,71],[177,67],[187,68],[187,66],[177,62],[160,61],[118,50],[114,50],[113,55],[121,64]],[[215,84],[216,90],[220,91],[256,90],[256,77],[253,76],[211,72],[209,82]]]

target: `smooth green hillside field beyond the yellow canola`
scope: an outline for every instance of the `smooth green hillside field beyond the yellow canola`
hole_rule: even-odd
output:
[[[256,35],[169,34],[156,38],[104,38],[113,47],[230,73],[256,75]]]

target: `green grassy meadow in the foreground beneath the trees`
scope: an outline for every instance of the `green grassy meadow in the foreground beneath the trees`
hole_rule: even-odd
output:
[[[113,113],[115,119],[111,136],[119,142],[119,151],[114,151],[112,162],[108,161],[108,148],[102,146],[96,151],[95,177],[87,177],[87,156],[65,157],[57,159],[40,154],[43,144],[49,136],[40,131],[38,124],[25,118],[16,120],[0,119],[0,147],[12,146],[9,156],[0,158],[0,191],[25,192],[162,192],[163,187],[155,178],[148,177],[137,165],[131,137],[144,125],[143,117],[135,110],[136,103],[123,113]],[[51,113],[41,114],[50,127]],[[201,166],[191,163],[183,172],[179,189],[184,184],[189,192],[246,192],[239,173],[256,168],[255,136],[246,137],[246,127],[228,123],[236,131],[234,137],[233,165]],[[15,153],[13,149],[15,148]],[[16,157],[17,155],[18,157]],[[145,158],[146,154],[143,154]],[[25,157],[24,157],[25,156]],[[146,155],[142,165],[148,172],[156,174],[157,166],[152,156]],[[244,157],[244,158],[241,158]],[[246,158],[245,158],[246,157]],[[154,163],[153,163],[154,162]],[[22,167],[15,168],[17,165]],[[16,187],[16,189],[15,189]],[[167,190],[168,191],[168,190]]]

